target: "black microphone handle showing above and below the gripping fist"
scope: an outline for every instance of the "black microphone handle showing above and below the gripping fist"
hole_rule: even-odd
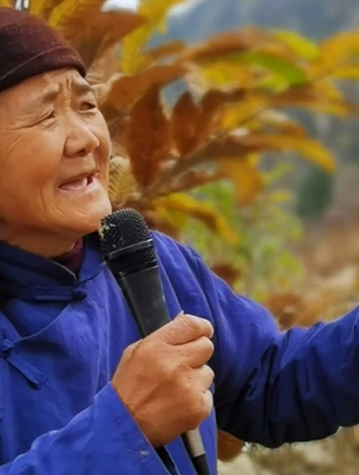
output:
[[[115,278],[143,337],[171,321],[157,264]],[[181,438],[197,474],[210,475],[199,430],[188,431]]]

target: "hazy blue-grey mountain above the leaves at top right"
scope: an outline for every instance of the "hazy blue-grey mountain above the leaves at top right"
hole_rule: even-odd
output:
[[[285,27],[312,38],[359,25],[356,0],[202,0],[169,24],[169,38],[197,41],[244,24]]]

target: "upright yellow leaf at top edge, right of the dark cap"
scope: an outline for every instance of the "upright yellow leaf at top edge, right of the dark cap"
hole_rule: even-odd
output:
[[[148,19],[146,25],[138,28],[122,42],[122,71],[127,74],[138,72],[142,50],[151,35],[163,26],[169,10],[185,0],[145,0],[138,7],[138,13]]]

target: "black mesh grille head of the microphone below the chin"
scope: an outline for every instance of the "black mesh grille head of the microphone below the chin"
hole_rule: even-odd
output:
[[[157,261],[151,231],[135,209],[121,209],[104,218],[99,235],[104,259],[115,275],[129,274],[140,266]],[[147,246],[136,249],[136,244],[148,241]],[[116,252],[118,256],[111,258],[111,254],[114,256]]]

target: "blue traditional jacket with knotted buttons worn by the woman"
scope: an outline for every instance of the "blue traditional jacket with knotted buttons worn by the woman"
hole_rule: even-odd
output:
[[[200,427],[212,474],[216,423],[277,447],[359,423],[359,321],[279,332],[191,249],[154,235],[169,311],[215,327],[215,412]],[[140,335],[86,238],[79,279],[0,244],[0,475],[193,475],[181,440],[159,457],[109,384]]]

